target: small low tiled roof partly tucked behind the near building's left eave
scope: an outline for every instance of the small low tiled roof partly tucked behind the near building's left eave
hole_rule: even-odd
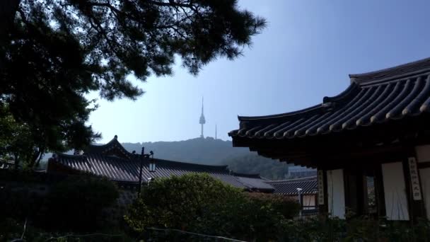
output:
[[[297,188],[301,188],[301,194],[310,195],[318,192],[317,177],[298,178],[291,180],[267,180],[265,183],[274,187],[274,193],[281,195],[298,195]]]

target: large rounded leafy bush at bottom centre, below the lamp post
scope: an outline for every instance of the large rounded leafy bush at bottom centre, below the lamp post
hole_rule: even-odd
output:
[[[292,213],[282,211],[280,201],[248,196],[209,175],[188,174],[151,182],[130,207],[126,221],[143,237],[157,236],[159,241],[202,238],[178,233],[155,235],[148,228],[181,229],[247,241],[275,239],[285,220],[283,214]]]

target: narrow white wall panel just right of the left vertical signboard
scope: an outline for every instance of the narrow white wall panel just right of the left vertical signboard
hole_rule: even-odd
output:
[[[345,218],[344,171],[327,171],[328,212],[331,217]]]

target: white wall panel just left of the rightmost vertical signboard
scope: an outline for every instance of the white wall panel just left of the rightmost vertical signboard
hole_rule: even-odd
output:
[[[388,220],[409,220],[405,173],[401,162],[383,163],[385,212]]]

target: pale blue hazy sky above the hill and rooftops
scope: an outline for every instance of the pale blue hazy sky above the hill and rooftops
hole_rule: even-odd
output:
[[[100,100],[90,119],[100,142],[177,141],[199,136],[204,96],[205,135],[228,139],[237,115],[306,108],[349,85],[348,74],[430,57],[430,1],[242,0],[240,8],[268,26],[245,55],[219,59],[192,76],[175,74],[139,84],[136,101]]]

